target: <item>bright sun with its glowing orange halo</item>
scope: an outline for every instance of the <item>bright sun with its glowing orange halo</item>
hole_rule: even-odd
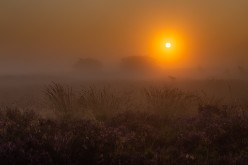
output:
[[[161,68],[181,68],[189,65],[192,59],[192,45],[188,36],[176,30],[158,30],[150,38],[150,54]],[[190,50],[190,51],[189,51]]]

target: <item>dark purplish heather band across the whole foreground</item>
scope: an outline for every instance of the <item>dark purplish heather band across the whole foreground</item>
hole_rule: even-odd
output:
[[[3,108],[3,164],[245,164],[246,109],[201,105],[191,118],[125,111],[109,120],[44,119]]]

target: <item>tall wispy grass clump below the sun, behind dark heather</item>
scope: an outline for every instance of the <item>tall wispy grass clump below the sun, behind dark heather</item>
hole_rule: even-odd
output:
[[[180,116],[194,113],[199,97],[177,88],[145,88],[144,95],[148,109],[163,116]]]

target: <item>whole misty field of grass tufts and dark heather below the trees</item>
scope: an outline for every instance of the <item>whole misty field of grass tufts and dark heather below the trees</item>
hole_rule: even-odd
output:
[[[1,79],[1,164],[248,162],[245,80]]]

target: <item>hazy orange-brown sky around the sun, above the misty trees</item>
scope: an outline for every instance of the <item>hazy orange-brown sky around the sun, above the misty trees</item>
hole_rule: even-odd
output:
[[[156,56],[170,35],[177,67],[244,65],[247,29],[247,0],[1,0],[0,64]]]

